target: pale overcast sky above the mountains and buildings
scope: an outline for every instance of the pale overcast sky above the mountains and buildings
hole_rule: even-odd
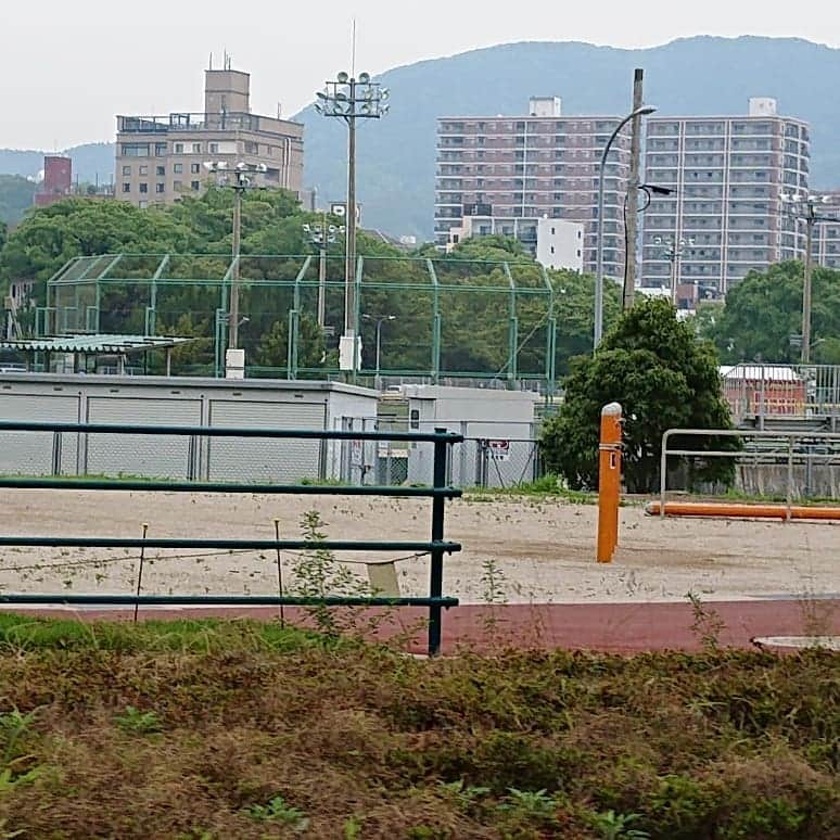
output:
[[[805,8],[805,7],[802,7]],[[252,105],[285,116],[357,69],[521,40],[649,47],[692,35],[801,37],[840,47],[840,3],[791,0],[0,0],[0,148],[113,140],[117,113],[201,111],[224,50],[252,73]],[[635,13],[631,10],[635,10]],[[217,64],[218,66],[218,64]]]

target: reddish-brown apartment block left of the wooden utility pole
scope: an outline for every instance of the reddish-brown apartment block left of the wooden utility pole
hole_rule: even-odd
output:
[[[615,116],[563,116],[557,97],[533,98],[527,116],[462,116],[437,120],[435,242],[446,247],[464,217],[513,228],[518,219],[585,225],[583,266],[595,270],[598,175]],[[604,170],[604,273],[624,273],[622,203],[629,176],[629,129]],[[495,220],[495,221],[494,221]]]

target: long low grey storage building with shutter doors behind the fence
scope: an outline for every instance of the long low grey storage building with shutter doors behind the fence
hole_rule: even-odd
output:
[[[340,429],[374,391],[328,382],[0,374],[0,420]],[[293,483],[340,478],[339,442],[0,432],[0,472]]]

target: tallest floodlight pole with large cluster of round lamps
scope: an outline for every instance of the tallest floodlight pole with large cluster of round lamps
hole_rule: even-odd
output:
[[[356,120],[379,119],[389,112],[389,91],[368,73],[358,78],[340,73],[318,91],[315,110],[327,117],[339,117],[347,124],[347,254],[344,268],[344,335],[342,345],[349,352],[349,364],[342,367],[356,372],[360,346],[356,335]],[[340,357],[344,354],[340,354]]]

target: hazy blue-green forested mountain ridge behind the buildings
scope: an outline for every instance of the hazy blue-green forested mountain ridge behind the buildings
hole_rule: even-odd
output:
[[[436,117],[516,116],[526,112],[531,96],[561,97],[568,115],[623,114],[629,110],[637,66],[646,72],[646,101],[663,115],[738,115],[746,114],[751,96],[777,99],[780,114],[811,123],[812,187],[840,187],[840,110],[833,106],[832,88],[840,78],[840,49],[803,38],[763,36],[704,35],[639,49],[516,41],[423,59],[377,77],[392,89],[392,112],[358,135],[362,224],[395,236],[431,239]],[[322,200],[342,199],[344,126],[320,117],[311,104],[293,119],[306,127],[305,186],[318,188]],[[112,143],[68,152],[81,180],[113,178]],[[0,150],[0,171],[37,171],[8,168],[9,154]]]

